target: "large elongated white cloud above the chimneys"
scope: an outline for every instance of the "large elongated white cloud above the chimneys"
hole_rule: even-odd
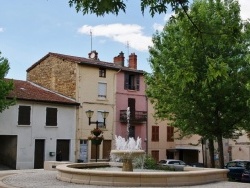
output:
[[[151,36],[144,35],[143,27],[136,24],[84,25],[78,29],[82,34],[89,35],[90,31],[93,36],[110,38],[125,45],[129,43],[138,51],[147,51],[152,45]]]

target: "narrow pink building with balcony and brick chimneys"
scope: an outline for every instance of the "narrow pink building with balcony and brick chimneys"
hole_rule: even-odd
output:
[[[144,72],[137,70],[137,55],[131,53],[128,67],[124,67],[124,54],[114,57],[114,63],[123,67],[116,76],[116,116],[115,134],[125,138],[140,137],[142,148],[146,150],[147,138],[147,98]],[[129,123],[127,108],[130,108]],[[128,131],[129,125],[129,131]],[[145,142],[144,142],[145,141]]]

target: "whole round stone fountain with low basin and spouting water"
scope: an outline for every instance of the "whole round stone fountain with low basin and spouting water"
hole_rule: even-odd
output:
[[[227,180],[227,169],[184,167],[184,171],[181,172],[133,172],[133,158],[142,156],[145,152],[141,148],[141,139],[139,137],[137,140],[129,138],[129,115],[128,107],[128,140],[126,141],[121,136],[115,136],[116,148],[111,150],[113,159],[122,160],[122,171],[101,170],[100,167],[111,167],[108,162],[62,164],[56,166],[56,178],[65,182],[109,187],[189,186]]]

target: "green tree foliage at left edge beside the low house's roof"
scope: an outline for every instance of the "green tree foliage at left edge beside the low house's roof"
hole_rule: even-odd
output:
[[[13,90],[13,82],[4,77],[9,71],[9,63],[6,58],[1,57],[0,52],[0,113],[6,108],[15,104],[15,100],[7,99],[7,95]]]

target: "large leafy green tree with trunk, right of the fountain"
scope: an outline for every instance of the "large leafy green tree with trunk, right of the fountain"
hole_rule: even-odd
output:
[[[222,138],[250,125],[250,27],[238,1],[194,1],[188,17],[177,14],[153,44],[146,92],[157,117],[210,140],[211,150],[216,140],[223,168]]]

